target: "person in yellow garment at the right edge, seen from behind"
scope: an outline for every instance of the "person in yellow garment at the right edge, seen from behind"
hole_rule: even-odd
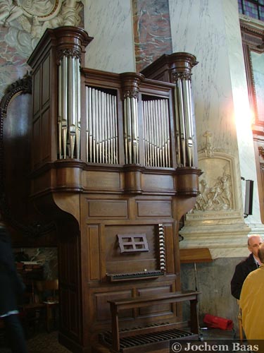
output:
[[[246,277],[239,305],[247,340],[264,340],[264,244],[258,249],[260,267]]]

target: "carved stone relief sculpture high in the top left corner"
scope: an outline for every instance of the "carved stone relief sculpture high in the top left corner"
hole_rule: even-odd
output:
[[[80,25],[82,7],[77,0],[0,0],[0,26],[7,28],[4,41],[27,57],[46,28]]]

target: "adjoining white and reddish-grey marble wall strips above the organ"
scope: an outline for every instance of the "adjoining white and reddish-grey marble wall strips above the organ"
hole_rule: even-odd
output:
[[[141,71],[170,54],[168,0],[86,0],[84,28],[94,40],[86,67],[116,73]]]

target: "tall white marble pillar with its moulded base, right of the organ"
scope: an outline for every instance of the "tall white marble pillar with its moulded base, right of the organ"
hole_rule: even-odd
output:
[[[246,256],[247,234],[263,233],[264,228],[259,214],[237,0],[169,0],[169,4],[173,52],[190,52],[199,61],[192,76],[199,167],[204,172],[201,180],[210,184],[211,190],[219,187],[210,196],[220,204],[218,210],[196,208],[187,215],[181,246],[209,247],[213,258]],[[223,158],[225,162],[221,163]],[[217,192],[222,197],[227,191],[227,186],[219,182],[225,168],[229,169],[232,205],[217,198]],[[241,177],[255,181],[253,216],[246,221]]]

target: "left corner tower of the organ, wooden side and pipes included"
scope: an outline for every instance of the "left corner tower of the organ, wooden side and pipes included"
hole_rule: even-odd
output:
[[[80,159],[80,66],[92,37],[71,26],[46,30],[27,63],[33,77],[33,167]],[[58,128],[58,133],[55,133]]]

